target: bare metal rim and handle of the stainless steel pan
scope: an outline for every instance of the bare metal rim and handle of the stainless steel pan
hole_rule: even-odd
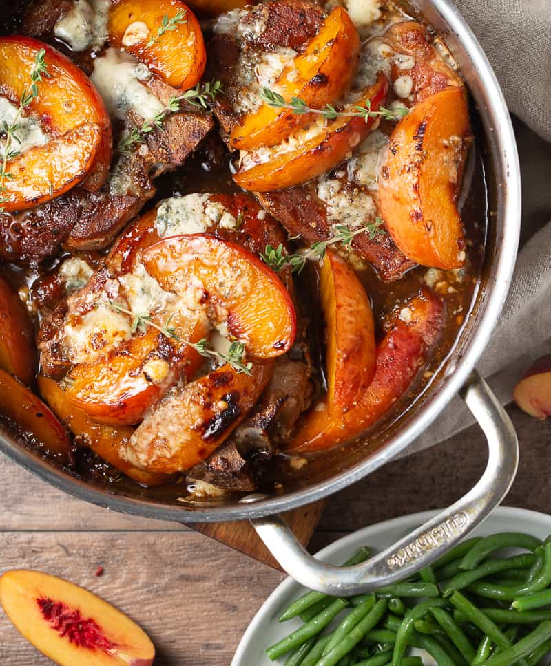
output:
[[[0,449],[4,453],[63,491],[114,511],[187,523],[250,519],[291,576],[309,588],[329,594],[369,592],[407,577],[457,543],[501,502],[517,471],[517,438],[505,411],[474,367],[503,307],[517,255],[521,215],[517,149],[495,75],[457,10],[449,0],[417,0],[410,6],[444,36],[479,109],[490,154],[492,169],[488,178],[497,215],[492,217],[482,287],[468,325],[437,381],[388,431],[384,446],[377,450],[365,447],[364,453],[344,471],[327,471],[324,478],[280,495],[251,495],[240,502],[205,505],[181,504],[137,488],[114,495],[39,458],[7,431],[0,433]],[[476,486],[448,510],[366,563],[343,570],[308,555],[278,514],[331,495],[384,465],[425,431],[457,393],[488,439],[488,466]],[[435,461],[437,455],[435,450]],[[430,488],[420,490],[430,492]]]

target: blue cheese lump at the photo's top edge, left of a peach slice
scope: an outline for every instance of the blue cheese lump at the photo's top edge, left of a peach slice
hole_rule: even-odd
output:
[[[107,41],[111,0],[76,0],[54,26],[54,35],[73,51],[100,50]]]

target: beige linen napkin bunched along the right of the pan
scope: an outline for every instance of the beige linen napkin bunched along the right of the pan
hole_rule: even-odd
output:
[[[510,110],[523,120],[514,122],[522,174],[521,250],[503,314],[477,365],[506,404],[530,364],[551,354],[551,0],[454,1],[486,51]],[[407,453],[472,422],[455,398]]]

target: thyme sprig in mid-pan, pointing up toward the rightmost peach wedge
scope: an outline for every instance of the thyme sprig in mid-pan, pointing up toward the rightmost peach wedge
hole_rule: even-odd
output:
[[[293,273],[300,273],[304,266],[306,266],[306,261],[322,261],[327,248],[331,245],[342,243],[344,246],[349,247],[353,238],[360,233],[367,233],[370,240],[373,240],[377,235],[384,234],[384,229],[381,228],[383,224],[384,221],[380,217],[375,217],[375,222],[354,230],[349,229],[344,224],[336,224],[335,234],[331,238],[313,243],[309,248],[300,253],[287,255],[284,252],[283,244],[280,243],[277,248],[267,245],[264,253],[260,254],[260,257],[275,272],[291,266]]]

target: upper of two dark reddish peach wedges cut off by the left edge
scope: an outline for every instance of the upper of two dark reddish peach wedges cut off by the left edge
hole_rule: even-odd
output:
[[[0,368],[23,384],[34,382],[37,347],[34,328],[21,299],[0,275]]]

